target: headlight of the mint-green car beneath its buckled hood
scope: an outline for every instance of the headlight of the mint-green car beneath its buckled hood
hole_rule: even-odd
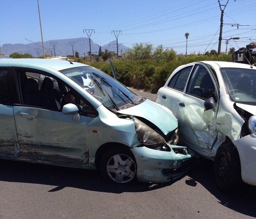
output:
[[[164,144],[164,138],[154,129],[134,117],[135,130],[139,141],[145,146]]]

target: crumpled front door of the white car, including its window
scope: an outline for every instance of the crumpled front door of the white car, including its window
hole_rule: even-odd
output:
[[[214,78],[213,72],[206,65],[195,64],[179,100],[177,114],[180,140],[204,156],[209,155],[217,139],[218,87]],[[204,103],[211,97],[215,106],[205,110]]]

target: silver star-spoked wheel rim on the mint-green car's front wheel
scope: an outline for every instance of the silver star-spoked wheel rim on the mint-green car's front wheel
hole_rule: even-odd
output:
[[[115,154],[107,162],[107,173],[115,182],[130,182],[136,174],[136,164],[128,155]]]

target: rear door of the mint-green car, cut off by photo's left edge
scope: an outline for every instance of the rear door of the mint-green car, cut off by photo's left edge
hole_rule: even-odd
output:
[[[18,157],[10,68],[0,68],[0,156]]]

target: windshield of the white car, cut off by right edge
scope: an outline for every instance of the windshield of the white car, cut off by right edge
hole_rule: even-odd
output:
[[[256,105],[256,70],[221,68],[221,73],[234,102]]]

